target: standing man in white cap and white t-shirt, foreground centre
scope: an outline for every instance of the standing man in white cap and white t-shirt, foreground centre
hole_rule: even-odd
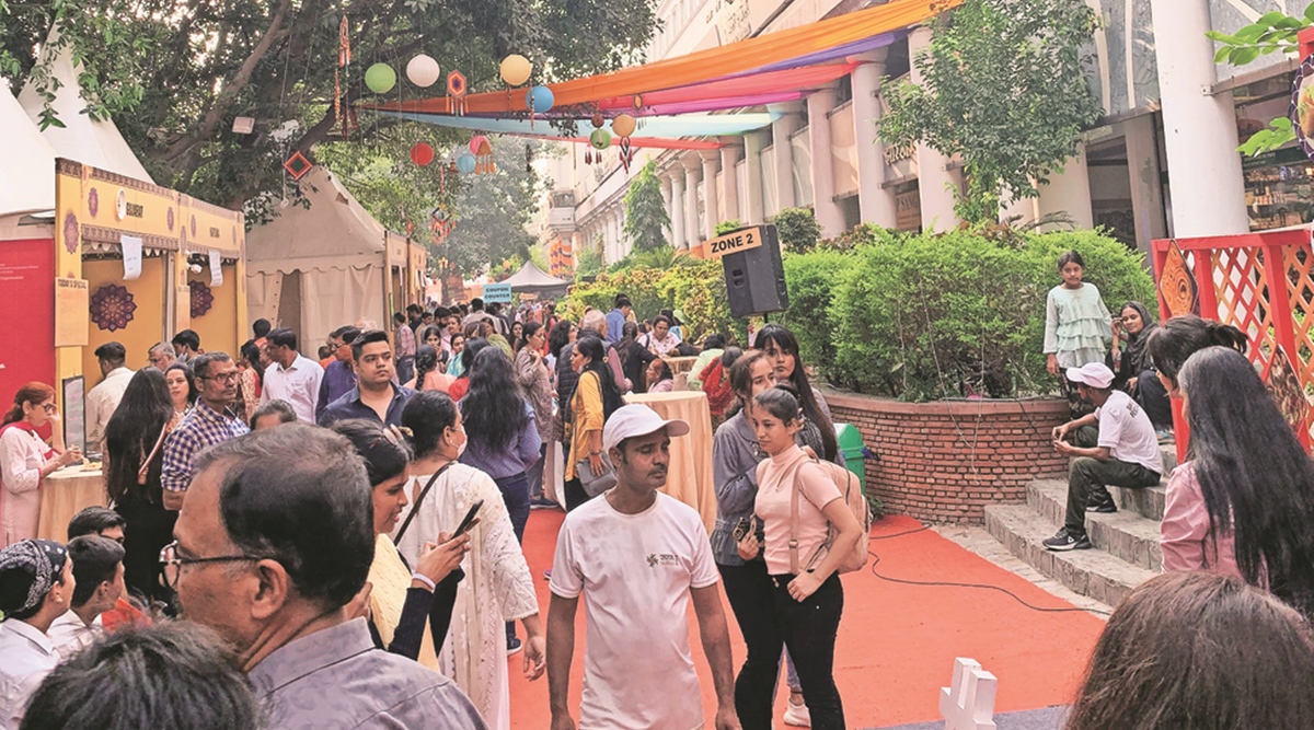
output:
[[[698,512],[657,490],[670,440],[689,433],[643,404],[618,408],[602,432],[616,486],[566,515],[552,563],[548,692],[552,730],[573,730],[566,705],[576,608],[587,607],[579,727],[696,730],[702,693],[689,651],[694,599],[716,685],[717,730],[737,729],[729,630],[719,574]]]

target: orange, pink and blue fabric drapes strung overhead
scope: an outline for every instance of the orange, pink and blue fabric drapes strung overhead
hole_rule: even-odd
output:
[[[460,114],[452,113],[448,96],[363,106],[442,126],[574,142],[587,139],[587,123],[579,125],[576,135],[566,135],[541,118],[585,122],[595,112],[627,112],[646,118],[631,140],[635,147],[671,147],[677,137],[737,135],[770,125],[770,114],[707,112],[803,98],[809,89],[851,72],[859,63],[851,56],[899,41],[911,26],[961,1],[892,0],[737,43],[548,84],[553,109],[539,116],[537,123],[527,119],[526,88],[468,95]]]

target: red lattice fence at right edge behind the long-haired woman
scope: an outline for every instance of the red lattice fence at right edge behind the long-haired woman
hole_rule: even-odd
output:
[[[1289,362],[1303,393],[1314,391],[1314,319],[1306,316],[1314,310],[1310,228],[1164,239],[1154,242],[1152,255],[1163,319],[1193,311],[1233,324],[1250,337],[1248,356],[1265,382]],[[1302,412],[1300,435],[1307,446],[1314,411]],[[1189,433],[1176,402],[1173,416],[1181,460]]]

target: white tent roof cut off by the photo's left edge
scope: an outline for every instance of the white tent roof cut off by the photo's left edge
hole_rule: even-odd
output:
[[[55,151],[0,83],[0,215],[55,209]]]

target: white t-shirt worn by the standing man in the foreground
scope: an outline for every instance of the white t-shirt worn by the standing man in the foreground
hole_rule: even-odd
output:
[[[639,515],[622,515],[606,496],[566,515],[551,588],[566,599],[583,593],[581,730],[703,727],[689,592],[719,579],[702,517],[670,496],[658,492]]]

